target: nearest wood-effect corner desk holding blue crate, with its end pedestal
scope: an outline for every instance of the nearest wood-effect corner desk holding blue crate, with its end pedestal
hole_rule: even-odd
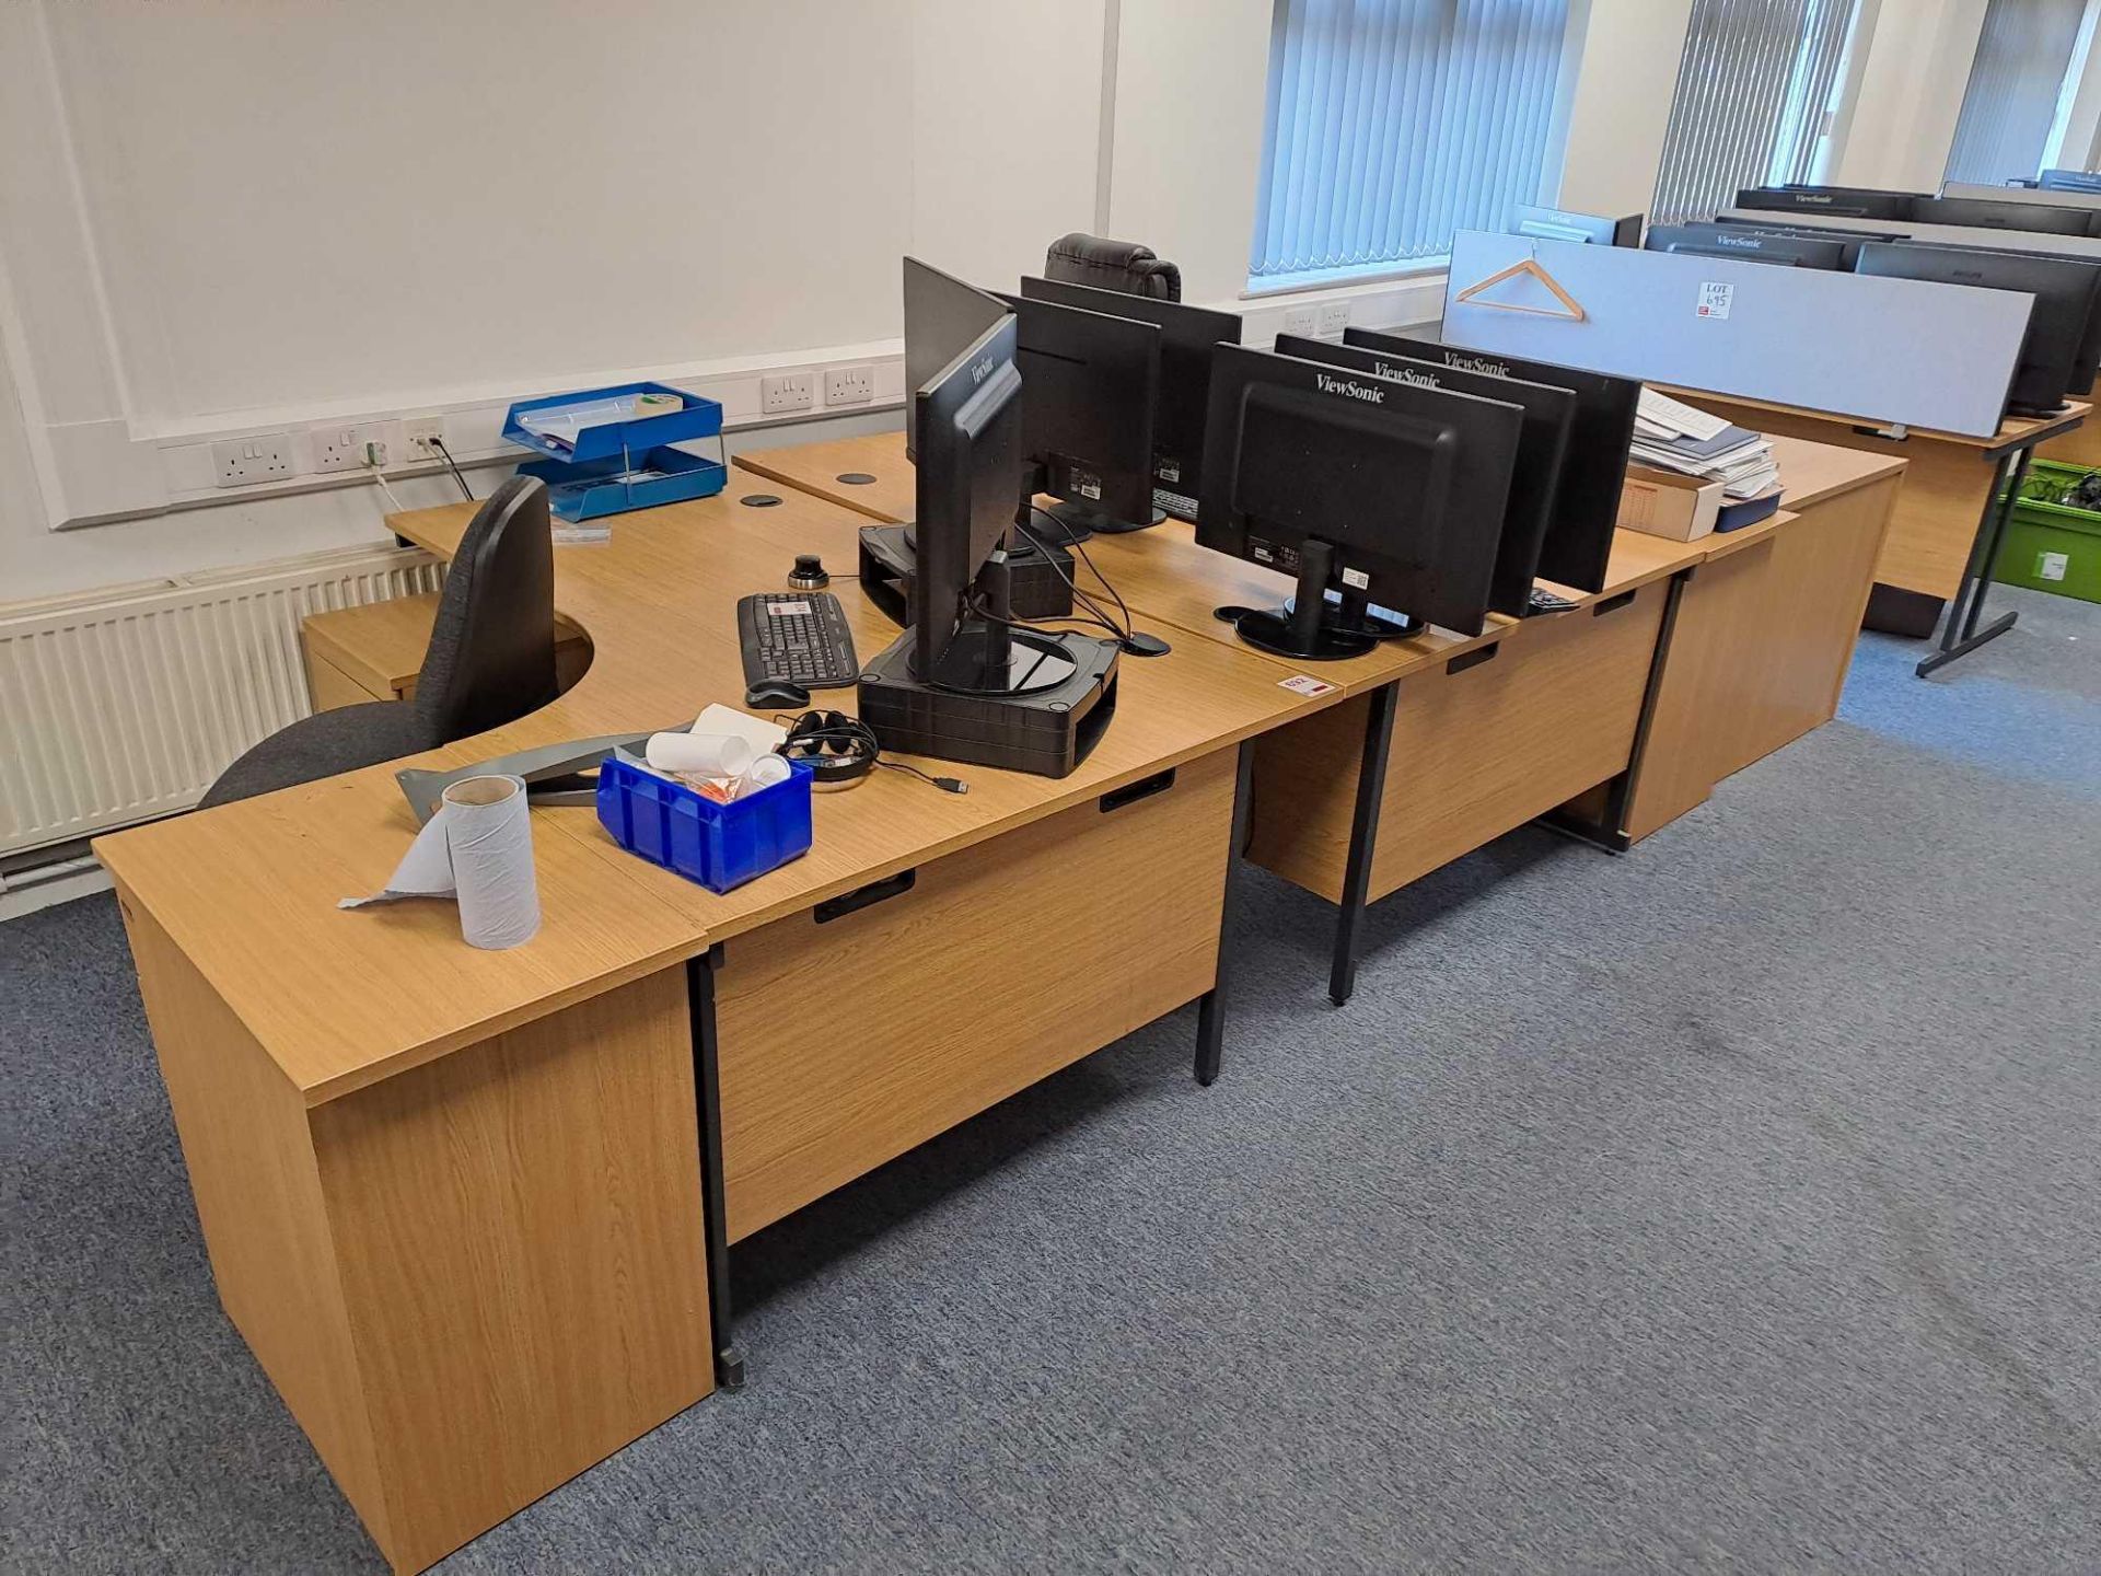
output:
[[[445,555],[469,517],[389,523]],[[725,496],[557,548],[592,666],[418,763],[737,702],[737,597],[861,519]],[[840,601],[864,654],[895,635]],[[729,1242],[1191,1000],[1208,1076],[1242,746],[1334,700],[1191,641],[1124,664],[1074,775],[878,771],[727,895],[536,809],[542,931],[508,952],[448,904],[336,908],[414,836],[401,763],[101,838],[221,1303],[395,1570],[733,1381]],[[1059,906],[1088,914],[1061,950],[971,941]],[[807,1032],[817,979],[855,1034]]]

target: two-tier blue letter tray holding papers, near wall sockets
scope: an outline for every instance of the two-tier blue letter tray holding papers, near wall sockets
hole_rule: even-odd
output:
[[[651,416],[613,414],[632,410],[637,395],[656,395],[666,410]],[[580,424],[574,435],[563,437],[534,431],[529,424],[571,406],[603,406],[607,418]],[[521,399],[504,416],[506,441],[548,456],[521,464],[519,475],[540,477],[548,488],[548,504],[567,521],[712,498],[729,483],[727,462],[670,445],[721,439],[721,435],[723,408],[714,399],[662,382],[622,382],[611,389]]]

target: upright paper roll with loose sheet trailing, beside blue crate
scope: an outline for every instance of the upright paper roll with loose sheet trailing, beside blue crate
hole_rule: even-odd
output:
[[[540,931],[540,885],[532,864],[532,820],[521,777],[466,777],[443,799],[387,889],[345,897],[338,908],[403,897],[458,897],[460,935],[477,948],[515,948]]]

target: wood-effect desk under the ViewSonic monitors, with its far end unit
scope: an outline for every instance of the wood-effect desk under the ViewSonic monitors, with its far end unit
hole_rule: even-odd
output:
[[[1618,532],[1601,590],[1557,588],[1572,611],[1307,664],[1345,702],[1256,740],[1248,857],[1336,904],[1338,1004],[1368,904],[1540,817],[1626,849],[1836,712],[1904,460],[1773,445],[1786,511],[1769,521],[1698,542]],[[899,433],[735,462],[872,519],[912,517]],[[1181,647],[1301,670],[1212,616],[1273,605],[1292,582],[1195,546],[1189,525],[1097,536],[1086,561]],[[1395,759],[1410,769],[1389,771]]]

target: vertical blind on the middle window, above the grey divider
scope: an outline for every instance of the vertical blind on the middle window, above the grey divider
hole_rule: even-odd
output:
[[[1710,219],[1742,187],[1809,181],[1859,0],[1698,0],[1649,219]]]

